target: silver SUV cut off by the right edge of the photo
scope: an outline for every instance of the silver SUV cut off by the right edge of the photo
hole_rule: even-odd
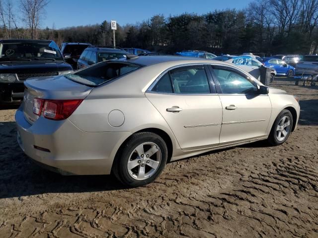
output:
[[[302,56],[296,65],[295,73],[298,75],[318,75],[318,56]]]

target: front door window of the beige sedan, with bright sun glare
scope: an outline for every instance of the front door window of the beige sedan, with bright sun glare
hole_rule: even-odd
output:
[[[254,94],[257,92],[256,83],[251,82],[243,75],[230,69],[213,69],[222,93],[227,94]]]

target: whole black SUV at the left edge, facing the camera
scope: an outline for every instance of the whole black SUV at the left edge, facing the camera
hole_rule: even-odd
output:
[[[23,82],[30,77],[73,71],[54,41],[0,40],[0,104],[23,100]]]

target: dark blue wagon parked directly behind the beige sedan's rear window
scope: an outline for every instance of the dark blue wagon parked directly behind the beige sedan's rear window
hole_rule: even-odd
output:
[[[77,68],[81,69],[106,60],[126,58],[127,54],[128,53],[122,49],[89,46],[80,55]]]

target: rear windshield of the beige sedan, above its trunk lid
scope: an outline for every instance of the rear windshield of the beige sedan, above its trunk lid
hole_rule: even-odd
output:
[[[67,74],[65,77],[81,84],[96,87],[140,67],[140,65],[126,62],[101,62],[77,72]]]

